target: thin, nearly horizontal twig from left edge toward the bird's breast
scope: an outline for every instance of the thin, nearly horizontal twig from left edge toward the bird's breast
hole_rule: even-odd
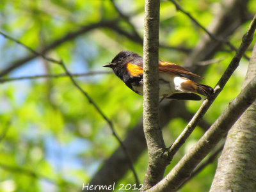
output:
[[[72,74],[73,77],[84,77],[84,76],[94,76],[98,74],[109,74],[107,71],[95,71],[95,72],[87,72],[87,73],[75,73]],[[68,77],[67,74],[47,74],[47,75],[37,75],[37,76],[23,76],[23,77],[13,77],[0,79],[0,83],[6,83],[10,81],[19,81],[19,80],[30,80],[30,79],[40,79],[40,78],[59,78],[59,77]]]

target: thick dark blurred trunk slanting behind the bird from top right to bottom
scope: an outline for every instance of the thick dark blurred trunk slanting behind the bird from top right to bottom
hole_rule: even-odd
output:
[[[228,38],[229,35],[234,33],[234,30],[241,26],[246,20],[241,19],[243,15],[240,14],[230,14],[235,13],[237,11],[237,4],[241,4],[241,0],[227,1],[223,9],[220,11],[220,14],[217,15],[216,19],[214,19],[209,26],[211,26],[211,32],[220,37],[220,38]],[[247,4],[248,1],[243,1],[243,4]],[[239,12],[246,12],[246,6],[238,6]],[[230,18],[232,17],[232,18]],[[218,24],[218,22],[220,22]],[[207,37],[203,38],[200,43],[195,47],[193,52],[189,54],[188,58],[186,58],[187,66],[193,66],[193,63],[197,63],[198,61],[209,60],[211,57],[220,49],[221,44],[216,44],[214,40],[211,40]],[[207,54],[205,54],[205,51]],[[202,74],[205,70],[205,67],[196,67],[191,68],[191,71],[196,72],[198,74]],[[164,108],[160,110],[160,118],[161,125],[164,126],[168,124],[170,120],[175,118],[176,115],[183,113],[182,109],[184,108],[184,103],[172,100],[170,102],[164,103]],[[177,111],[179,109],[179,111]],[[143,138],[142,131],[142,123],[138,122],[129,133],[127,134],[124,145],[127,147],[127,150],[131,154],[132,160],[136,161],[140,154],[145,150],[146,143]],[[122,177],[124,177],[127,170],[129,170],[129,166],[127,164],[127,160],[119,148],[113,153],[109,159],[105,161],[100,170],[93,176],[90,184],[113,184],[113,182],[117,182]],[[115,174],[112,174],[112,173]],[[109,175],[113,175],[109,177]],[[115,177],[114,177],[115,176]]]

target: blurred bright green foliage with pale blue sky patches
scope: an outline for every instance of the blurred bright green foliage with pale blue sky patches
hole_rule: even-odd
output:
[[[211,28],[212,20],[227,3],[224,0],[177,2],[205,28]],[[256,1],[245,4],[248,15],[255,12]],[[77,83],[113,122],[122,140],[142,116],[143,97],[102,65],[123,50],[143,55],[143,17],[144,1],[135,0],[1,0],[0,3],[0,31],[50,58],[63,60],[72,74],[83,74],[76,77]],[[241,44],[249,24],[250,17],[228,38],[235,47]],[[203,36],[205,32],[184,13],[177,12],[171,1],[161,1],[161,60],[184,65]],[[255,40],[246,52],[248,56],[254,43]],[[187,60],[186,64],[207,65],[201,82],[214,87],[234,54],[224,45],[211,61]],[[212,124],[241,91],[247,65],[248,60],[243,58],[205,115],[205,122]],[[81,191],[83,183],[90,182],[119,147],[106,120],[70,79],[52,76],[63,73],[60,65],[35,56],[0,35],[0,191]],[[185,103],[186,109],[195,113],[202,100]],[[184,118],[174,118],[163,127],[166,146],[172,144],[186,124]],[[195,129],[166,173],[202,134],[203,129]],[[140,182],[147,158],[145,150],[134,164]],[[180,191],[208,191],[215,170],[216,160]],[[118,184],[134,183],[131,170],[118,181]]]

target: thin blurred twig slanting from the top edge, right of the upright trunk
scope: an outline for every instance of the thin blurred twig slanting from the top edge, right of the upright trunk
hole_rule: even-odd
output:
[[[185,15],[187,15],[189,17],[189,19],[193,20],[193,22],[195,22],[195,24],[198,27],[203,29],[205,31],[205,33],[207,33],[207,35],[209,35],[210,38],[212,38],[216,42],[220,42],[220,43],[228,45],[228,47],[230,47],[230,49],[232,49],[233,51],[237,51],[236,47],[234,45],[232,45],[228,40],[220,38],[220,37],[210,33],[204,26],[202,26],[202,24],[200,24],[200,22],[198,22],[193,16],[191,16],[189,12],[186,12],[175,0],[169,0],[169,1],[172,1],[172,3],[175,5],[177,11],[180,11],[180,12],[184,13]],[[250,60],[250,58],[248,56],[246,56],[245,53],[243,54],[243,56],[247,60]]]

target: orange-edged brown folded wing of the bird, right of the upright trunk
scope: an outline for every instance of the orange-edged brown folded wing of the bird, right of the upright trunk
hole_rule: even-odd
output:
[[[179,74],[179,75],[186,74],[189,76],[203,78],[201,76],[193,74],[188,69],[181,67],[180,65],[176,65],[175,63],[170,63],[170,62],[161,61],[161,60],[159,60],[159,72],[168,72],[168,73]]]

